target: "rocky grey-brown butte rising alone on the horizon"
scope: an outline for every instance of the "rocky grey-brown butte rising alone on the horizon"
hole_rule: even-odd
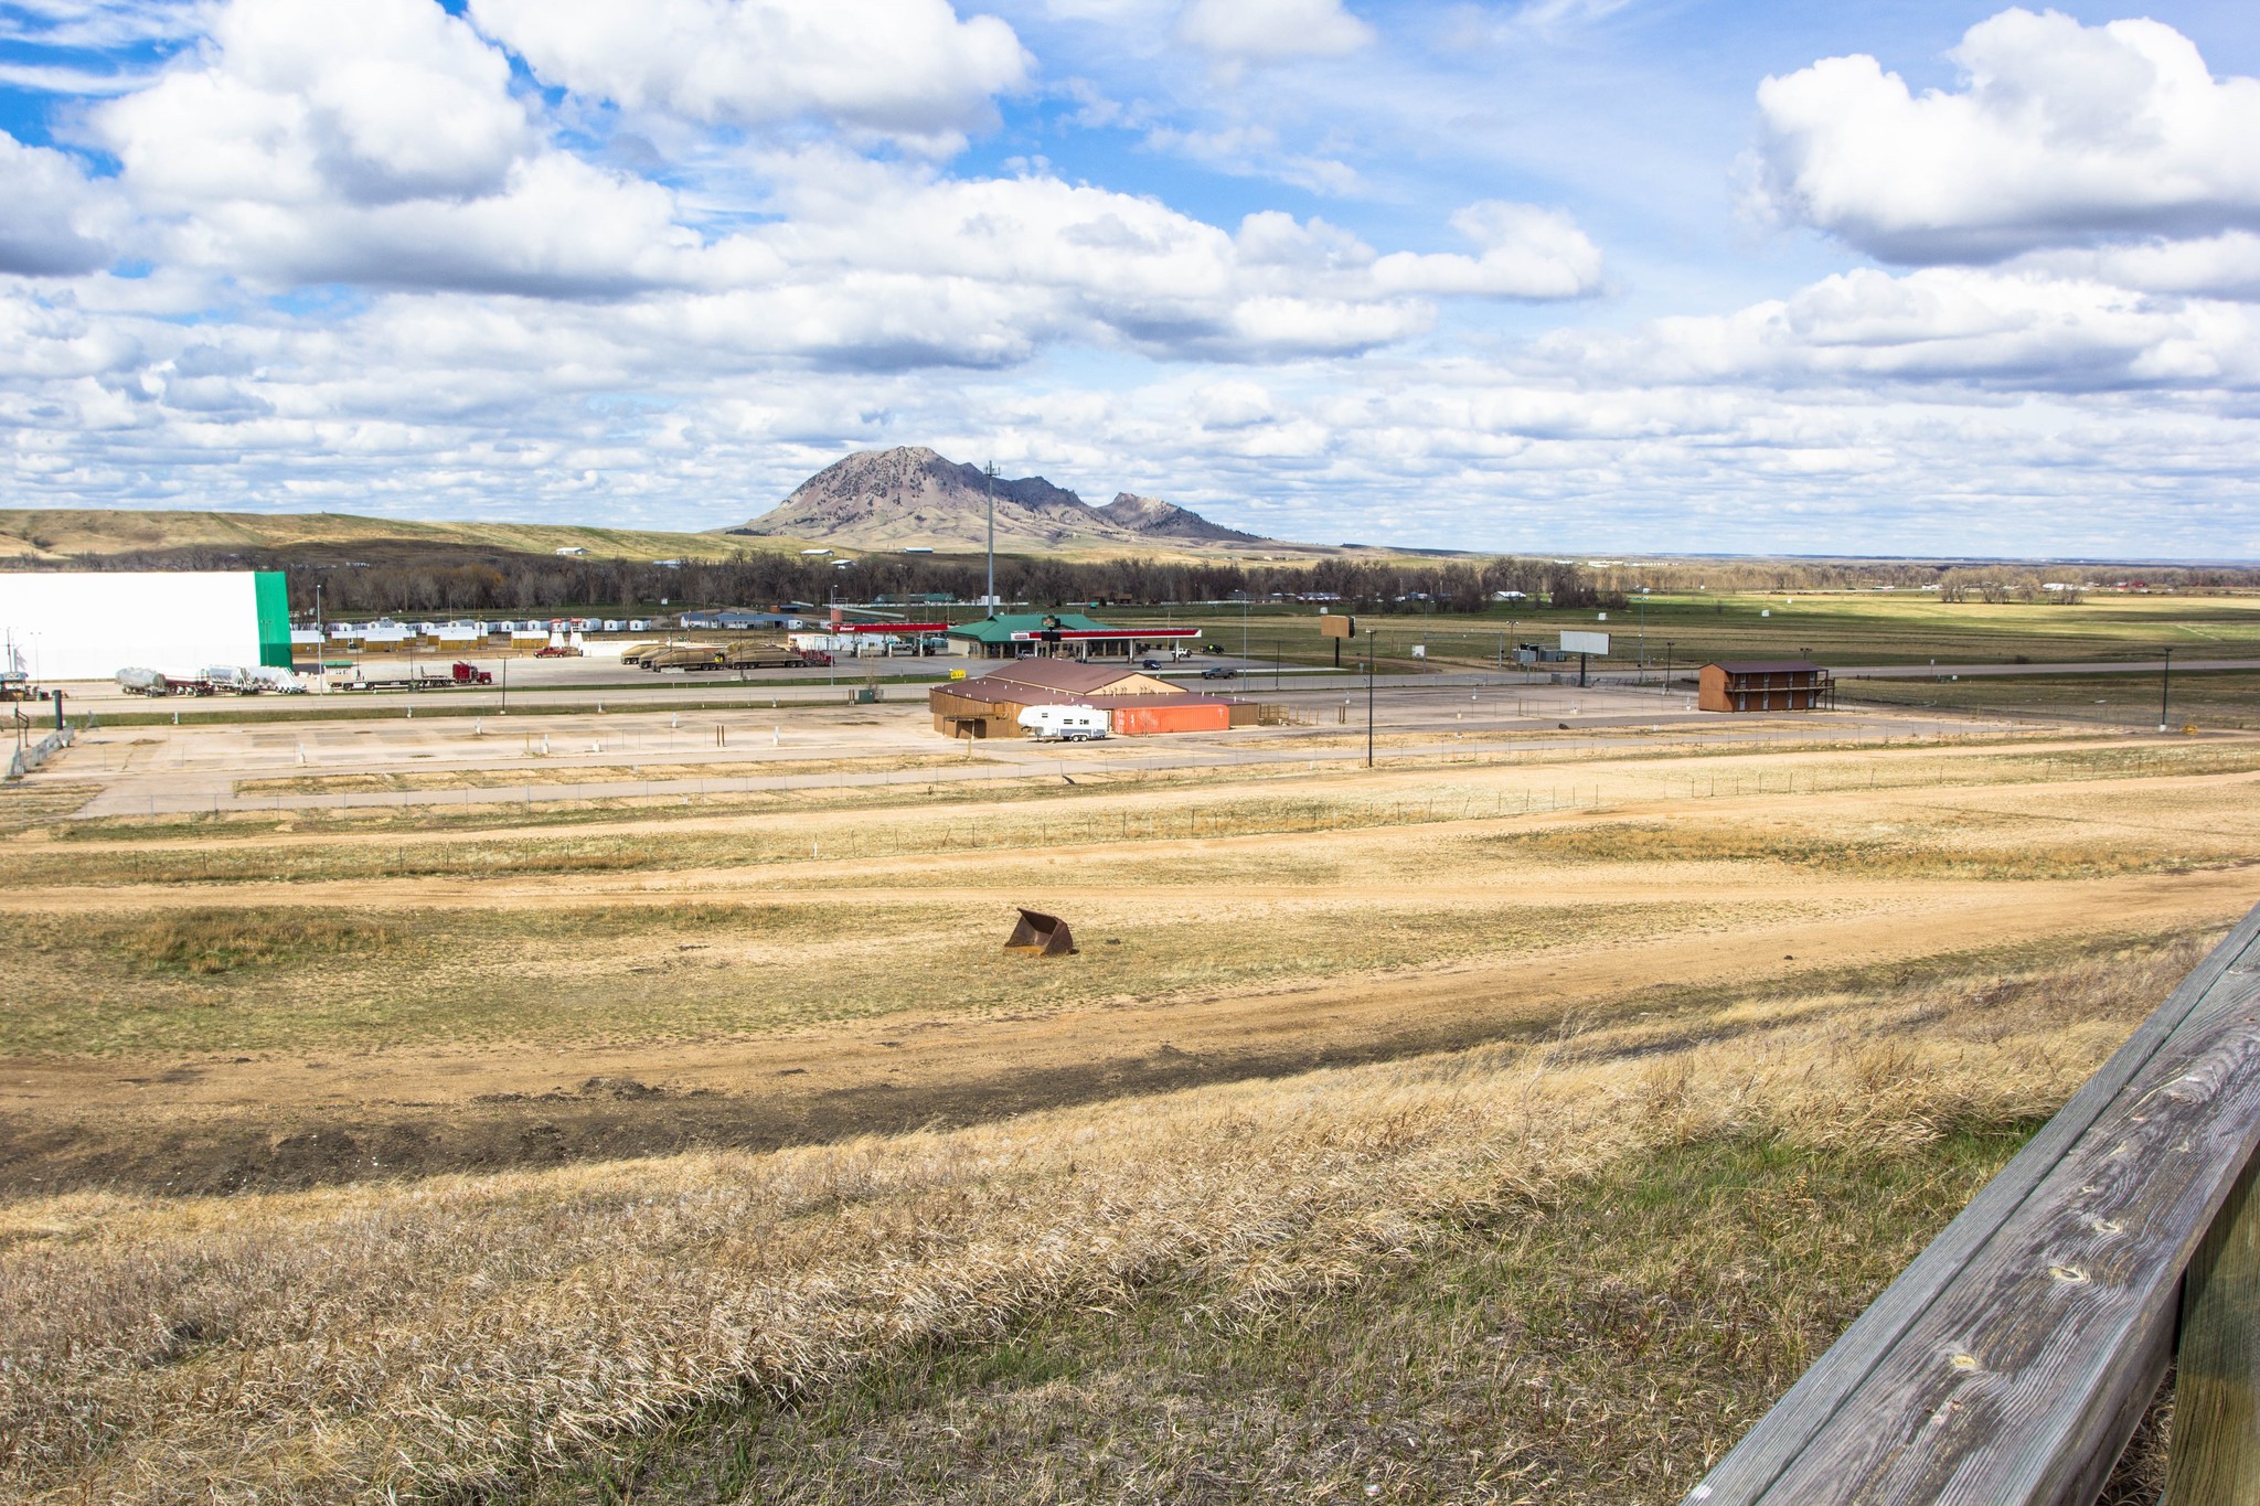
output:
[[[861,449],[816,472],[744,528],[850,549],[981,549],[990,481],[924,447]],[[994,481],[997,549],[1055,551],[1166,544],[1272,544],[1155,497],[1119,494],[1094,508],[1042,476]]]

